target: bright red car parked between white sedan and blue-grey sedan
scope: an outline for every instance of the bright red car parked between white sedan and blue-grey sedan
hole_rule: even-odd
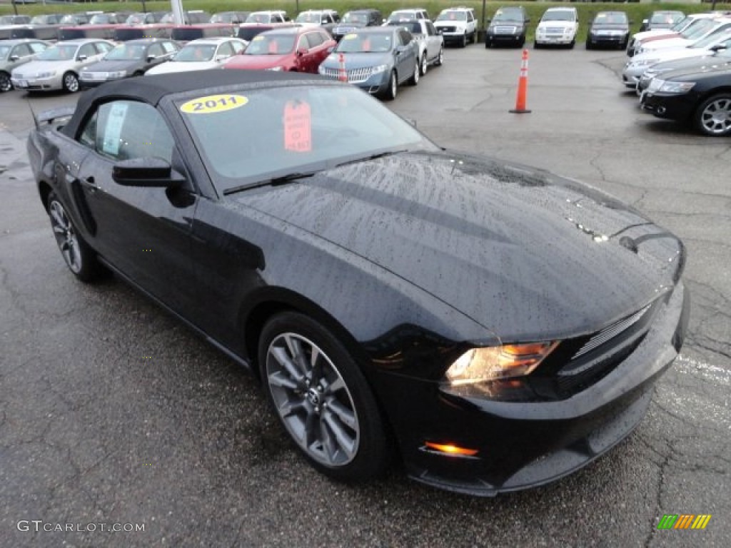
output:
[[[232,56],[224,69],[292,70],[317,74],[337,42],[322,28],[278,28],[257,34],[246,50]]]

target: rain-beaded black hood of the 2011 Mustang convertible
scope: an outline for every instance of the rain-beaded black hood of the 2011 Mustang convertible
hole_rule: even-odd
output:
[[[673,286],[682,244],[595,189],[452,153],[401,153],[230,195],[368,259],[504,340],[584,335]]]

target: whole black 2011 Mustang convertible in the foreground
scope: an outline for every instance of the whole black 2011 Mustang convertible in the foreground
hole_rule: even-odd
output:
[[[355,86],[160,75],[39,118],[71,272],[112,270],[251,368],[336,479],[398,454],[448,490],[550,482],[639,424],[681,348],[680,240],[581,183],[444,151]]]

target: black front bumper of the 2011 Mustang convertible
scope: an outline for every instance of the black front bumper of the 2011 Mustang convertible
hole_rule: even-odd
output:
[[[678,355],[688,316],[689,293],[678,283],[632,354],[565,400],[458,397],[427,381],[380,373],[379,393],[401,441],[407,473],[445,490],[493,496],[553,482],[586,466],[643,419],[656,378]],[[477,454],[439,453],[428,449],[427,441],[477,449]]]

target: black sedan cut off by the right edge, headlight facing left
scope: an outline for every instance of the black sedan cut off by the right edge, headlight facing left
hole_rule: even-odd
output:
[[[658,118],[690,123],[712,137],[731,135],[731,66],[711,64],[692,72],[675,70],[654,77],[640,107]]]

